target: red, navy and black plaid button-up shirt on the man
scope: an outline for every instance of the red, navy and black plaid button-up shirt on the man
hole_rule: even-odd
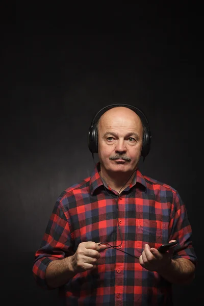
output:
[[[112,197],[107,193],[98,167],[91,177],[65,190],[56,202],[33,266],[36,282],[44,288],[50,261],[71,256],[79,243],[120,244],[115,201],[118,193],[104,182]],[[178,244],[173,259],[196,263],[191,226],[180,195],[137,170],[131,185],[119,197],[118,209],[121,247],[101,251],[96,269],[75,275],[59,288],[60,295],[67,305],[171,305],[171,284],[120,250],[139,257],[145,243],[158,248],[175,239]]]

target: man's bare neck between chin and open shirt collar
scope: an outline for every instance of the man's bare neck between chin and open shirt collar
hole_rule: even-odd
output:
[[[135,175],[135,171],[126,173],[110,173],[101,167],[99,174],[111,189],[121,193],[127,186],[131,184]]]

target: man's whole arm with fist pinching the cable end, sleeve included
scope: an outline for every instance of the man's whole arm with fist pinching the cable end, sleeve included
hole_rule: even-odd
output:
[[[40,287],[54,289],[66,284],[78,272],[93,269],[100,258],[95,242],[82,242],[73,251],[73,231],[67,197],[60,198],[50,216],[41,248],[35,254],[33,275]]]

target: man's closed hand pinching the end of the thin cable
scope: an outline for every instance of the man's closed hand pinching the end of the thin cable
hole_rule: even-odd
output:
[[[100,243],[100,242],[99,242]],[[72,256],[71,266],[75,273],[94,269],[100,258],[99,250],[106,245],[98,245],[92,241],[82,242],[78,245],[77,251]]]

